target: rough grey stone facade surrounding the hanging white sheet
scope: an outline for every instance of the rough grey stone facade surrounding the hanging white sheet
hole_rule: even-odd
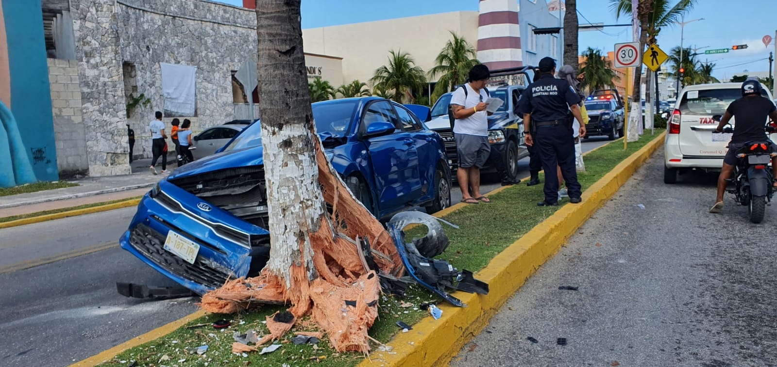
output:
[[[190,119],[194,133],[235,118],[232,71],[256,60],[255,12],[202,0],[117,0],[116,12],[119,58],[132,65],[124,77],[134,79],[124,81],[124,95],[143,93],[152,101],[127,119],[136,158],[152,156],[148,122],[162,111],[160,63],[197,67],[197,116],[177,116]],[[164,119],[168,134],[173,117]]]

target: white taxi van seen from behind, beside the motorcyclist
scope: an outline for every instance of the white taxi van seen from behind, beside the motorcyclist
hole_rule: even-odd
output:
[[[713,115],[723,115],[731,102],[742,97],[740,87],[741,83],[714,83],[682,89],[667,122],[664,183],[677,182],[679,173],[691,169],[720,171],[731,134],[713,134],[718,126]],[[772,100],[763,84],[761,94]],[[730,123],[733,126],[734,119]]]

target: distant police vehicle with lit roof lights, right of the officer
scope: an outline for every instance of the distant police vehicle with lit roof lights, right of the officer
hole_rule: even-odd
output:
[[[609,140],[623,136],[625,114],[612,95],[589,96],[585,100],[588,123],[585,137],[605,135]]]

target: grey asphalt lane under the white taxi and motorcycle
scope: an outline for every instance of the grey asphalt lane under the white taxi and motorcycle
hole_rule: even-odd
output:
[[[752,224],[726,198],[709,214],[715,177],[664,185],[662,164],[659,151],[451,365],[777,365],[777,209]]]

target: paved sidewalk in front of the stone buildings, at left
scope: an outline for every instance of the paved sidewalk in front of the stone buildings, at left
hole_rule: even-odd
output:
[[[168,162],[174,162],[174,158],[168,157]],[[139,159],[131,163],[132,175],[82,178],[69,181],[78,183],[74,187],[2,196],[0,218],[143,196],[167,176],[161,173],[152,175],[148,170],[150,165],[150,158]],[[170,171],[175,168],[175,163],[167,167]],[[159,162],[156,170],[162,171]]]

